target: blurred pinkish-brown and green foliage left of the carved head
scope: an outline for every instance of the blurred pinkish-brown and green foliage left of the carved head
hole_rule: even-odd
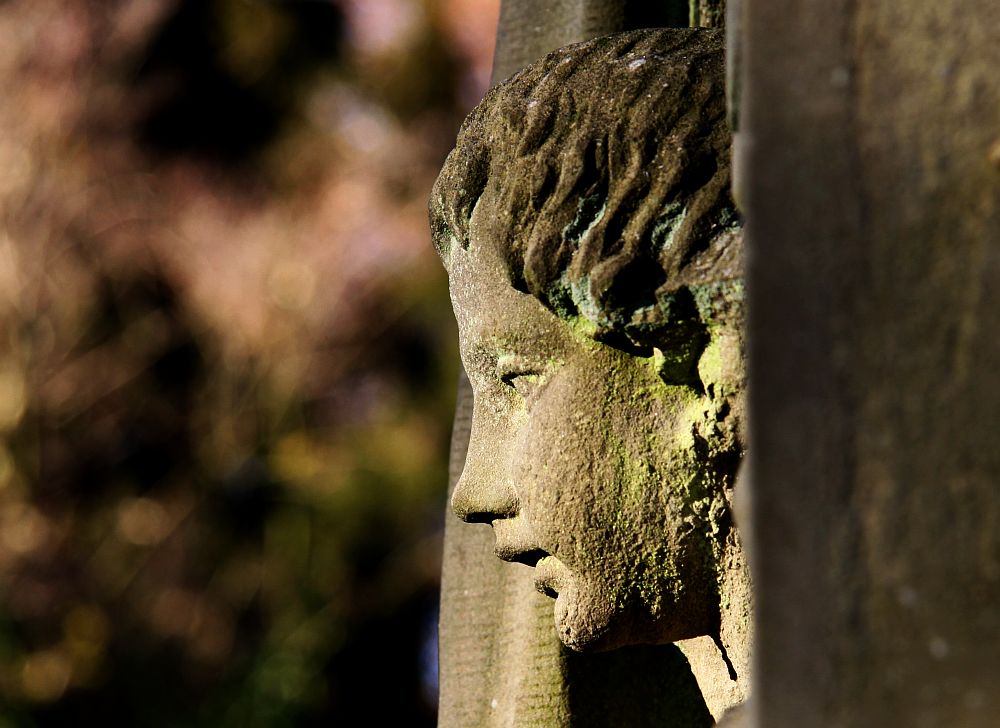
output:
[[[433,725],[496,6],[0,3],[0,726]]]

